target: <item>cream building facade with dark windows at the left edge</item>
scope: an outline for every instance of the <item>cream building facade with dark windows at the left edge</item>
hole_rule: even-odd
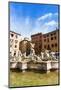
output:
[[[10,55],[18,56],[19,52],[19,42],[22,40],[21,35],[10,31]]]

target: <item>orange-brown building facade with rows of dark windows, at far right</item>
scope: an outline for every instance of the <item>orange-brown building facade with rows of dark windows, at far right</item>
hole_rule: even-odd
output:
[[[59,52],[59,30],[43,34],[42,49]]]

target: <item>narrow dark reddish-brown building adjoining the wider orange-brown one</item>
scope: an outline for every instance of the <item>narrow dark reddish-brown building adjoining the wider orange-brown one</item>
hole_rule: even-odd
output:
[[[42,33],[31,35],[31,42],[35,43],[35,46],[34,46],[35,53],[39,54],[42,49]]]

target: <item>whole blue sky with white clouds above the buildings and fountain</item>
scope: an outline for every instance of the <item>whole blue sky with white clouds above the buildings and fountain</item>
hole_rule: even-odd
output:
[[[58,6],[10,2],[10,30],[30,38],[58,28]]]

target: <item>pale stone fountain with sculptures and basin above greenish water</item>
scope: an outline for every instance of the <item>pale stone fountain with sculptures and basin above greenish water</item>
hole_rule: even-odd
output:
[[[49,50],[45,50],[44,52],[41,52],[41,55],[36,55],[34,45],[35,44],[30,42],[29,55],[26,54],[26,49],[24,52],[19,50],[18,57],[10,59],[11,68],[19,68],[23,73],[27,69],[44,70],[47,73],[50,72],[51,69],[58,69],[58,60],[54,57],[53,53]]]

